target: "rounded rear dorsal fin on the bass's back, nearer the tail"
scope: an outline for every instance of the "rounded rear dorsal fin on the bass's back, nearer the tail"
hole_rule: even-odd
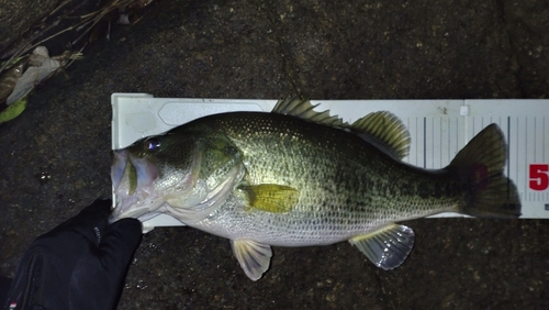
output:
[[[410,132],[391,112],[370,113],[354,122],[350,129],[395,158],[402,159],[408,155]]]

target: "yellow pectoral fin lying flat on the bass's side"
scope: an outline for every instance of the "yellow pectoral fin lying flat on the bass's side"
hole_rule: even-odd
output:
[[[260,184],[240,186],[238,189],[247,196],[247,210],[284,213],[291,211],[300,198],[299,190],[283,185]]]

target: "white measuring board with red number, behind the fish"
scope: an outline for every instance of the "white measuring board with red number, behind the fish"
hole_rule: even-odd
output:
[[[330,110],[346,122],[376,111],[390,111],[407,126],[412,144],[403,160],[427,169],[442,168],[491,123],[507,139],[505,174],[517,185],[523,203],[522,219],[549,218],[549,100],[311,100],[316,111]],[[154,98],[147,93],[111,96],[112,148],[164,133],[194,119],[231,111],[272,110],[277,100]],[[115,199],[115,197],[113,197]],[[441,213],[439,217],[463,217]],[[144,223],[182,225],[169,215]]]

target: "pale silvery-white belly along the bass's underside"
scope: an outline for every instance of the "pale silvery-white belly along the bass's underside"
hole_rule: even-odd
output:
[[[236,198],[206,219],[190,226],[229,240],[253,240],[274,246],[314,246],[347,241],[373,232],[404,218],[425,217],[426,211],[413,214],[383,212],[352,213],[320,208],[296,208],[287,213],[246,210]]]

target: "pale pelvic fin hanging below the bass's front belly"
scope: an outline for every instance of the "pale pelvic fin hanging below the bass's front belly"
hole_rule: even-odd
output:
[[[270,245],[251,240],[232,240],[231,247],[246,273],[253,281],[257,281],[269,268],[272,256]]]

